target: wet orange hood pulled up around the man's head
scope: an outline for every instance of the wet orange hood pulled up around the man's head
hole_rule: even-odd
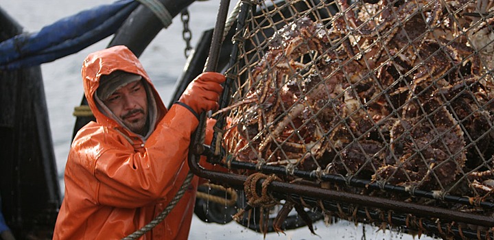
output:
[[[86,96],[89,108],[91,108],[97,123],[108,128],[117,128],[120,131],[127,132],[128,136],[136,135],[133,132],[130,132],[130,130],[128,130],[124,125],[121,125],[116,119],[105,115],[101,108],[98,107],[99,99],[95,97],[101,76],[109,75],[110,73],[113,73],[113,71],[117,70],[134,73],[143,77],[143,80],[148,83],[150,93],[153,95],[153,97],[148,97],[148,99],[154,99],[157,110],[157,119],[155,119],[156,121],[152,121],[152,123],[156,123],[159,119],[162,119],[166,114],[167,109],[163,104],[161,97],[159,97],[158,91],[156,91],[156,88],[152,84],[148,73],[145,72],[137,56],[135,56],[130,49],[123,45],[96,51],[87,56],[86,60],[84,60],[84,63],[82,64],[84,95]],[[150,103],[148,106],[154,106],[154,104]],[[150,126],[150,128],[154,128],[154,125]]]

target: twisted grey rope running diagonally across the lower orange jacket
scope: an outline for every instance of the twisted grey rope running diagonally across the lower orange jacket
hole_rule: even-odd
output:
[[[176,193],[175,197],[172,199],[171,202],[169,202],[168,206],[165,208],[165,210],[163,210],[163,212],[161,212],[155,219],[150,221],[149,224],[146,224],[141,229],[132,232],[132,234],[128,235],[127,237],[124,237],[122,240],[138,239],[146,232],[154,228],[156,225],[158,225],[161,221],[163,221],[163,219],[167,217],[167,215],[172,211],[172,209],[175,207],[178,201],[180,201],[180,198],[183,197],[185,190],[187,190],[187,188],[189,187],[193,176],[194,175],[191,171],[187,173],[187,178],[185,178],[185,181],[183,182],[182,186],[180,186],[180,189],[178,189],[178,192]]]

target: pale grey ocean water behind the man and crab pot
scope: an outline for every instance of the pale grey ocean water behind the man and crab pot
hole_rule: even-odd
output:
[[[179,1],[179,0],[178,0]],[[25,32],[37,32],[49,25],[76,14],[81,10],[112,0],[0,0],[0,6],[24,27]],[[232,7],[236,1],[232,0]],[[220,1],[198,1],[189,7],[189,28],[192,32],[191,45],[195,46],[199,36],[215,25],[217,8]],[[175,82],[183,71],[185,41],[182,39],[183,25],[177,16],[172,25],[163,29],[141,55],[141,62],[158,88],[165,105],[174,92]],[[84,58],[108,45],[112,36],[83,49],[78,53],[49,62],[41,66],[49,111],[49,122],[56,154],[56,163],[63,191],[63,171],[71,143],[75,117],[72,112],[82,99],[82,80],[80,68]],[[307,228],[288,230],[285,235],[270,233],[266,239],[416,239],[412,235],[386,230],[373,226],[340,221],[325,226],[322,221],[315,223],[318,236],[311,235]],[[231,222],[226,225],[204,223],[193,218],[189,239],[264,239],[262,234],[253,232],[244,226]],[[422,236],[420,239],[430,239]]]

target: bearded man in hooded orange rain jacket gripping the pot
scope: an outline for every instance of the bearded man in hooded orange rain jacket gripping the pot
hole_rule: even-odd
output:
[[[198,115],[218,108],[225,77],[202,73],[169,110],[127,47],[91,53],[82,78],[96,122],[85,125],[71,145],[54,239],[121,239],[176,195],[189,171]],[[208,121],[207,143],[213,123]],[[187,239],[197,187],[194,177],[165,220],[141,239]]]

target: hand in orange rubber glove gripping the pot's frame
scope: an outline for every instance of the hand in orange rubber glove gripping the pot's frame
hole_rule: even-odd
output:
[[[178,101],[196,111],[193,112],[196,116],[204,111],[217,110],[219,108],[217,101],[223,91],[220,84],[225,80],[225,76],[221,73],[201,73],[187,86]]]

